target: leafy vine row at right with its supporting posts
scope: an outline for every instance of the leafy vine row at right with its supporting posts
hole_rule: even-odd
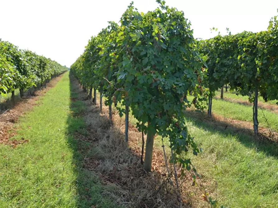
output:
[[[278,99],[278,20],[271,18],[266,31],[220,35],[200,40],[198,49],[206,57],[210,89],[208,115],[215,91],[229,84],[231,90],[248,95],[253,102],[254,133],[258,133],[258,96]],[[277,103],[278,104],[278,103]]]

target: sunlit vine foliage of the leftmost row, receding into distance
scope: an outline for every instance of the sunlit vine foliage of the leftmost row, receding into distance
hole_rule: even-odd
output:
[[[15,90],[20,89],[22,97],[27,89],[36,89],[66,70],[56,61],[0,39],[0,95],[12,93],[14,97]]]

